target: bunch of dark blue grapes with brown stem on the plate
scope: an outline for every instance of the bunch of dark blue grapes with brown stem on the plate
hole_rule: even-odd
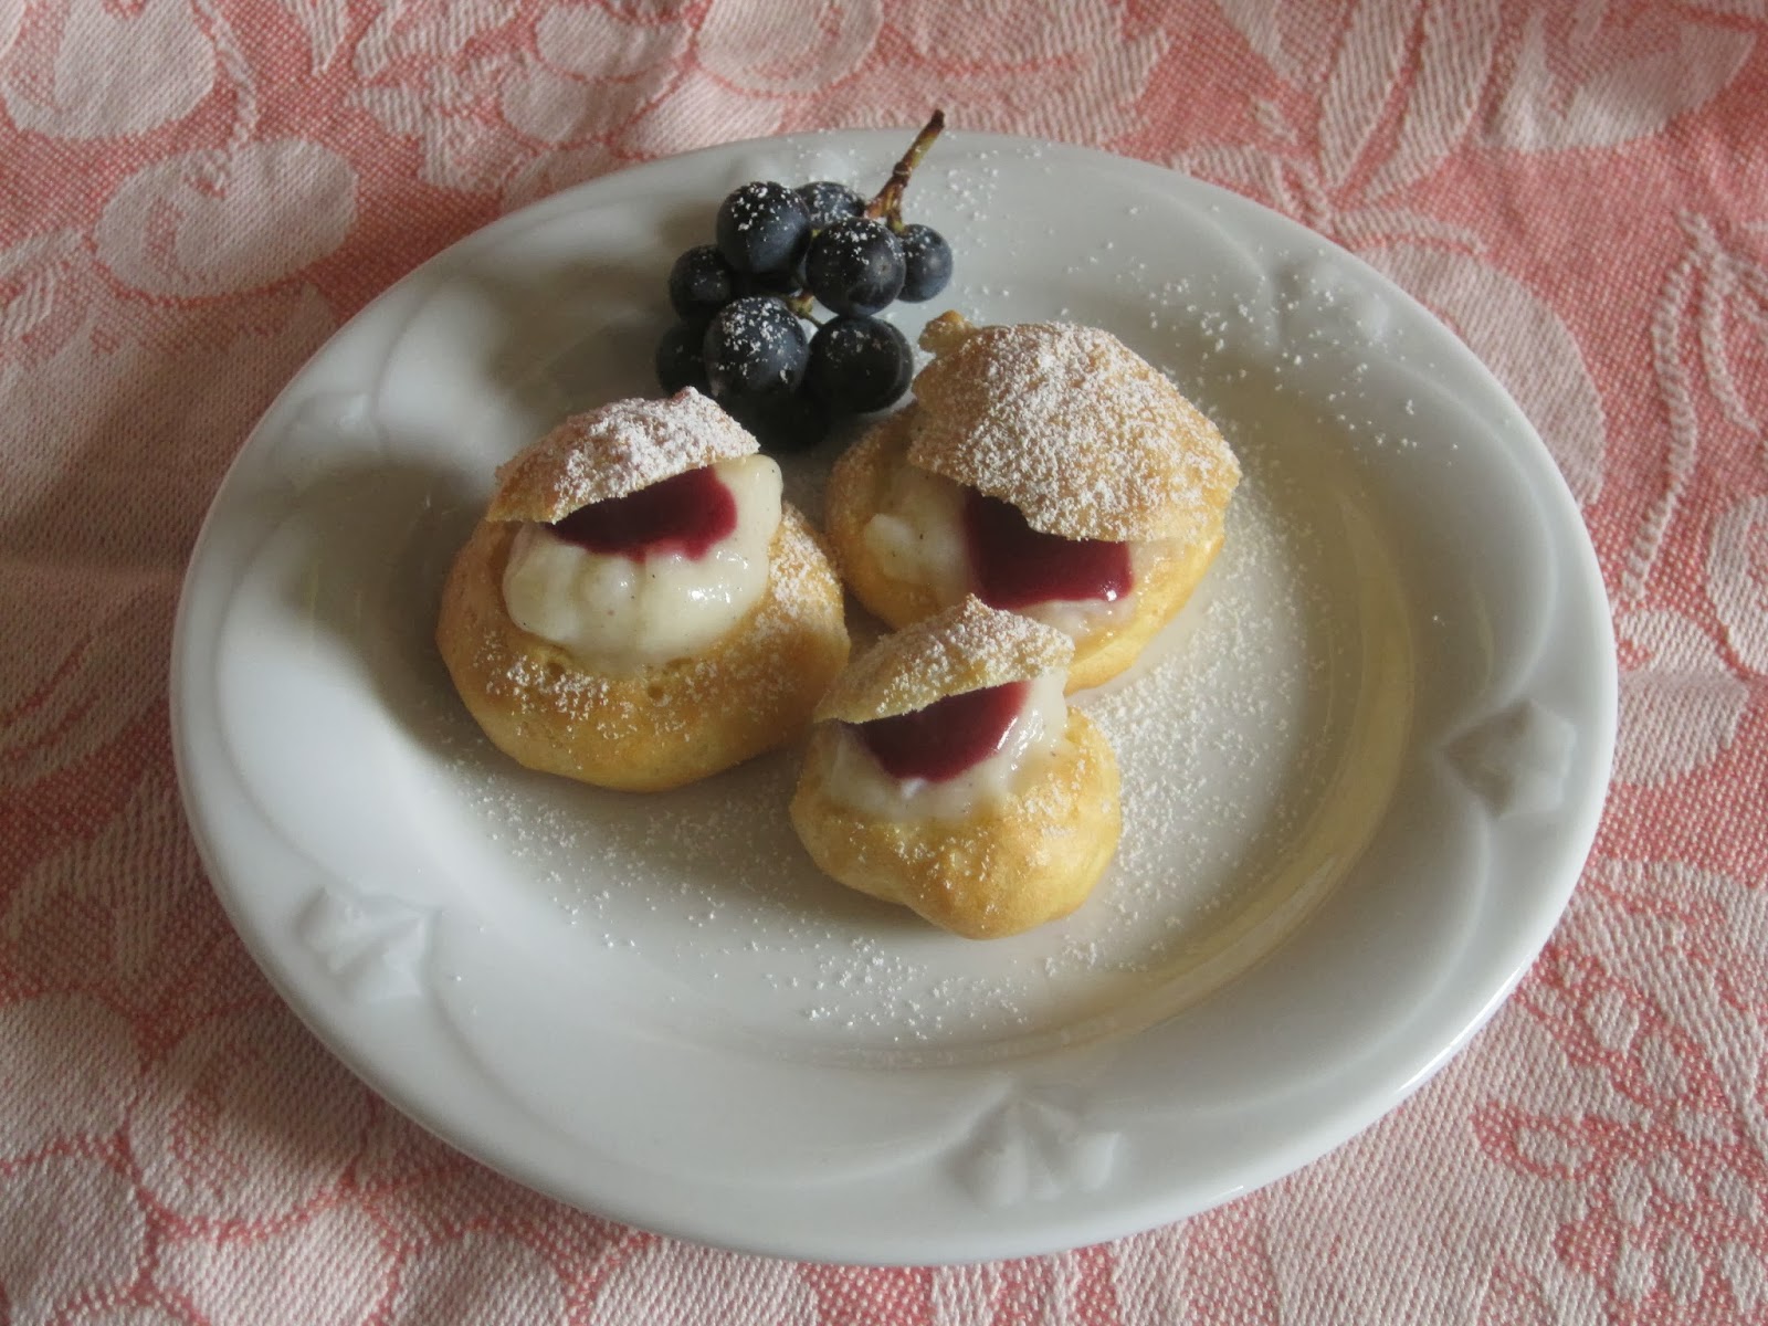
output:
[[[944,237],[902,219],[909,177],[944,127],[934,111],[870,202],[833,180],[755,180],[727,196],[716,242],[668,274],[681,320],[658,343],[663,389],[698,387],[769,451],[813,446],[831,421],[895,405],[914,355],[877,315],[951,279]],[[813,316],[813,304],[833,316]]]

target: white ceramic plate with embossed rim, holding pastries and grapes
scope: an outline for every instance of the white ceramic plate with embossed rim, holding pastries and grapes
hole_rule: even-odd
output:
[[[1197,599],[1087,700],[1126,785],[1094,898],[971,944],[817,877],[789,755],[654,797],[499,757],[430,644],[492,469],[651,391],[665,272],[728,187],[872,187],[907,136],[629,170],[400,281],[240,453],[173,661],[216,889],[357,1073],[568,1202],[868,1262],[1176,1220],[1393,1109],[1552,930],[1616,705],[1577,509],[1429,313],[1172,171],[955,133],[909,210],[958,279],[898,322],[1109,327],[1246,467]]]

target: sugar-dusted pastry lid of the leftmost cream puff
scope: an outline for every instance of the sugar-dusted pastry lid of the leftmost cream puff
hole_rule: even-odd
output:
[[[743,424],[693,387],[663,401],[613,401],[573,414],[499,465],[484,514],[552,523],[591,502],[758,449]]]

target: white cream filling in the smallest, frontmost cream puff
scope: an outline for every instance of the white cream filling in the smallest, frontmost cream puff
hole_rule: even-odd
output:
[[[824,790],[831,801],[886,820],[965,819],[1024,792],[1068,734],[1063,672],[1033,677],[1001,748],[956,778],[895,778],[872,758],[859,735],[842,727]]]

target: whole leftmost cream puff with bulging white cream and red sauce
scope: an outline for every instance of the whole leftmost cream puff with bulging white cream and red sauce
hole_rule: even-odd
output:
[[[847,661],[842,585],[757,453],[686,389],[573,415],[497,470],[437,647],[499,750],[659,790],[803,734]]]

